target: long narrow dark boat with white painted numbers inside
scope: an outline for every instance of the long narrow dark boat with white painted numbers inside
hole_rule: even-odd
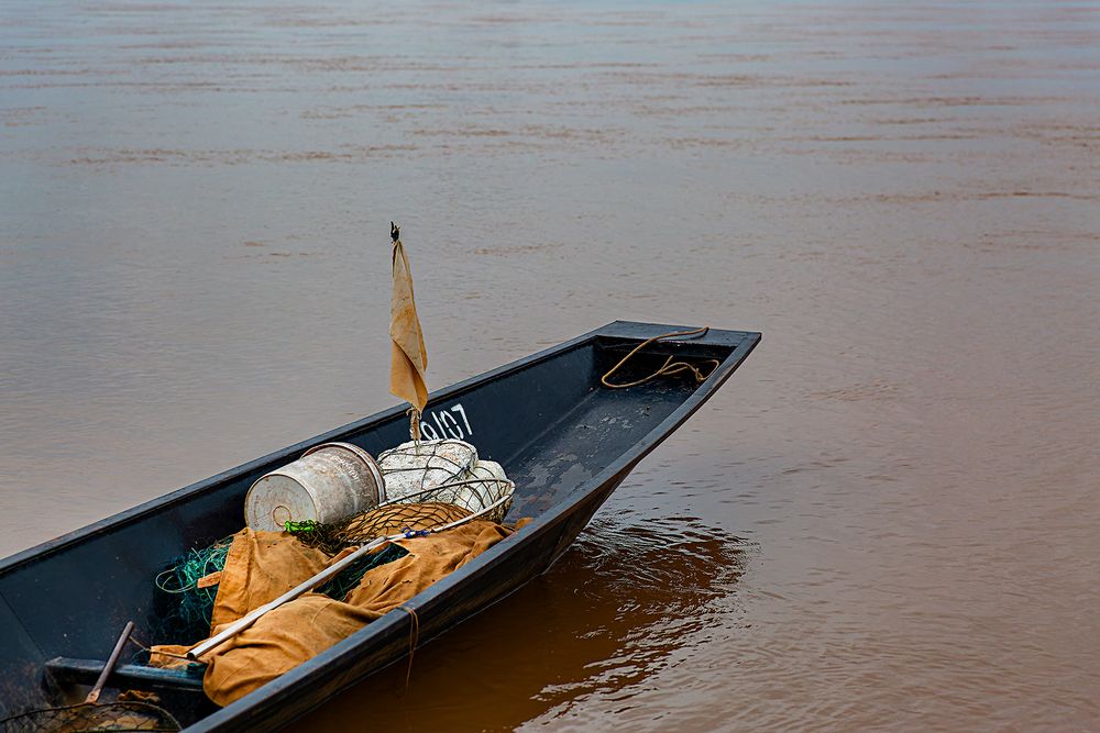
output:
[[[602,386],[635,346],[680,330],[615,322],[431,396],[426,436],[468,440],[502,463],[517,486],[510,517],[535,521],[406,604],[417,612],[421,641],[544,571],[635,465],[760,341],[759,333],[715,329],[657,341],[617,380],[647,375],[669,355],[710,375],[702,384],[680,375]],[[0,562],[0,719],[73,701],[102,669],[127,621],[147,638],[157,621],[154,577],[189,548],[239,530],[244,495],[260,476],[330,441],[376,455],[407,440],[407,431],[405,408],[396,407]],[[403,658],[410,622],[408,613],[391,612],[226,708],[207,700],[198,678],[136,664],[117,667],[109,687],[156,691],[188,731],[276,729]]]

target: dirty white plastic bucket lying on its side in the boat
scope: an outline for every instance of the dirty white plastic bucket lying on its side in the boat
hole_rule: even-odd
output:
[[[350,443],[324,443],[253,484],[244,518],[253,530],[267,531],[287,522],[334,522],[376,507],[382,486],[370,453]]]

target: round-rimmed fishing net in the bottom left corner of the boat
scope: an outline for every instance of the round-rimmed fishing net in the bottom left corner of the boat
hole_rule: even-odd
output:
[[[0,720],[0,733],[91,733],[92,731],[178,731],[167,710],[148,702],[81,702],[32,710]]]

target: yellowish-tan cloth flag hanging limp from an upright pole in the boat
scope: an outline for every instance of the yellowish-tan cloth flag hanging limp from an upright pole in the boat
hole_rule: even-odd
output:
[[[425,373],[428,370],[428,352],[424,347],[424,336],[420,333],[420,318],[416,313],[416,300],[413,298],[413,270],[409,269],[409,258],[405,255],[400,230],[397,224],[389,223],[391,236],[394,240],[394,295],[389,304],[389,391],[408,400],[417,413],[424,410],[428,402],[428,385]]]

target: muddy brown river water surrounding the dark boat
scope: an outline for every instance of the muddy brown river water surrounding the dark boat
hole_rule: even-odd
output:
[[[1100,729],[1100,5],[0,5],[0,554],[615,319],[760,330],[297,730]]]

